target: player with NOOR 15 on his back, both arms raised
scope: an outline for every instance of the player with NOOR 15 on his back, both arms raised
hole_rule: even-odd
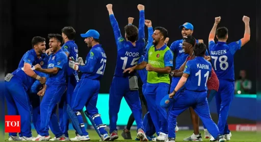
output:
[[[120,103],[124,97],[131,108],[137,123],[137,135],[142,141],[147,141],[142,122],[142,109],[139,99],[138,79],[136,73],[123,73],[125,68],[133,67],[138,63],[143,49],[145,48],[144,6],[138,5],[138,10],[140,11],[139,31],[136,26],[127,25],[124,27],[125,38],[121,36],[118,22],[113,14],[112,4],[109,4],[106,7],[110,15],[110,21],[117,44],[116,69],[110,88],[109,98],[110,140],[115,140],[119,137],[116,123],[118,120]]]

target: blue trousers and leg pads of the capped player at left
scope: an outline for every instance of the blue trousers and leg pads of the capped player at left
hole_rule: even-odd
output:
[[[87,113],[92,118],[92,120],[90,121],[93,121],[95,123],[100,134],[107,134],[107,131],[105,130],[106,125],[102,124],[100,114],[96,107],[99,89],[99,80],[93,80],[89,78],[81,79],[74,89],[71,108],[72,111],[77,115],[77,120],[81,125],[83,135],[88,135],[88,132],[86,131],[84,126],[83,117],[82,115],[80,115],[84,106],[86,107]]]

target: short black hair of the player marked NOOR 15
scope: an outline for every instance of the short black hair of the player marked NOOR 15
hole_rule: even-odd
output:
[[[126,25],[124,27],[126,37],[129,41],[135,42],[138,39],[138,28],[134,25]]]

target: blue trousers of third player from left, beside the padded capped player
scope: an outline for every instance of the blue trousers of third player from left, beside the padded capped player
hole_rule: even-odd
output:
[[[69,119],[69,116],[67,113],[66,104],[70,105],[71,100],[72,100],[73,91],[77,84],[75,76],[74,75],[67,76],[66,83],[67,83],[67,90],[63,94],[61,101],[59,102],[58,112],[59,112],[59,121],[60,121],[61,130],[66,137],[69,137],[68,130],[69,130],[70,119]]]

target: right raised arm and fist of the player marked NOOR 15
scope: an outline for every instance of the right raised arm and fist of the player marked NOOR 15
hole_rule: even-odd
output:
[[[145,8],[143,5],[138,5],[138,9],[140,11],[138,40],[144,40],[145,39],[145,32],[144,32],[144,22],[145,22],[144,9]]]

